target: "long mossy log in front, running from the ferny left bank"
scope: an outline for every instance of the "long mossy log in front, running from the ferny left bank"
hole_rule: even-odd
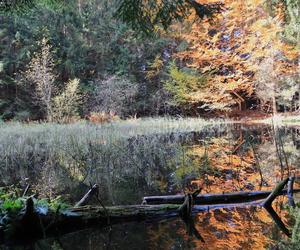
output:
[[[249,205],[249,204],[248,204]],[[259,203],[250,204],[257,206]],[[88,227],[105,227],[112,224],[132,221],[157,221],[166,218],[180,217],[180,206],[177,204],[161,205],[129,205],[113,206],[105,209],[100,206],[73,207],[59,214],[49,212],[45,214],[26,215],[26,220],[14,221],[18,225],[10,239],[27,240],[32,238],[43,238],[45,236],[61,235],[68,232],[81,230]],[[206,212],[217,208],[236,207],[231,205],[199,206],[192,208],[192,214]],[[243,206],[238,204],[238,206]],[[14,227],[14,226],[13,226]]]

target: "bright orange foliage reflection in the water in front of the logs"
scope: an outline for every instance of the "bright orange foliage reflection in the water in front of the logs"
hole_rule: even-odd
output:
[[[273,224],[268,213],[255,207],[220,209],[198,215],[197,229],[207,243],[204,249],[265,249]]]

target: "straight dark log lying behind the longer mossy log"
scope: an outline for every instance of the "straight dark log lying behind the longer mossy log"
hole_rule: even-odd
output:
[[[300,193],[300,189],[294,189],[293,193]],[[195,205],[216,205],[216,204],[232,204],[246,203],[267,198],[271,191],[255,191],[255,192],[236,192],[224,194],[201,194],[194,198]],[[286,195],[287,190],[282,190],[277,195]],[[185,200],[184,195],[166,195],[166,196],[145,196],[143,204],[182,204]]]

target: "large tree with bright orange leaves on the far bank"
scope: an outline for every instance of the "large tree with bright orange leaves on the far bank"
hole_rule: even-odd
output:
[[[280,84],[298,70],[297,50],[280,36],[284,8],[276,5],[271,16],[265,0],[224,2],[226,9],[213,22],[195,21],[191,16],[186,21],[190,30],[182,32],[178,24],[173,27],[180,31],[175,36],[188,43],[176,59],[209,76],[206,84],[185,95],[185,101],[204,110],[230,111],[233,107],[243,110],[249,106],[247,100],[258,98],[261,106],[272,104],[275,112]]]

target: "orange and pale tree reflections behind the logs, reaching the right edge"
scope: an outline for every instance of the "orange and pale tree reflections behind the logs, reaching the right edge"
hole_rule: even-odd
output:
[[[182,173],[190,173],[190,183],[203,187],[205,192],[269,189],[283,178],[282,174],[288,174],[288,168],[281,169],[285,159],[279,158],[286,158],[289,169],[294,171],[300,157],[292,135],[280,139],[280,155],[278,140],[270,135],[221,136],[189,147],[186,155],[191,165],[177,168],[176,176],[182,178]]]

